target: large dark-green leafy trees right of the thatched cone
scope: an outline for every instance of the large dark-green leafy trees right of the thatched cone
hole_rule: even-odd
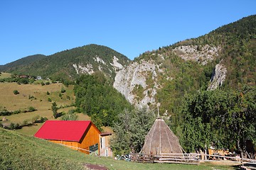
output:
[[[176,123],[181,145],[195,149],[235,149],[246,152],[246,140],[256,145],[255,87],[241,90],[200,91],[188,96]]]

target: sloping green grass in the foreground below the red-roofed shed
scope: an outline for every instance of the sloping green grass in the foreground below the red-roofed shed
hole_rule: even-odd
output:
[[[228,166],[186,164],[141,164],[92,157],[36,137],[0,128],[0,169],[85,169],[101,164],[108,169],[233,169]]]

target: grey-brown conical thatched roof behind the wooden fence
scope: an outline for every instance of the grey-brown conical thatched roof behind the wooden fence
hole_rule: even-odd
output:
[[[166,125],[163,119],[156,119],[154,125],[146,135],[142,154],[182,154],[182,147],[179,145],[178,137]]]

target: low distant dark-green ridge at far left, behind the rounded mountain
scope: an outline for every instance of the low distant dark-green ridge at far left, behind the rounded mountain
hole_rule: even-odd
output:
[[[33,62],[37,62],[43,58],[46,58],[46,55],[30,55],[28,57],[23,57],[14,62],[8,64],[0,65],[0,72],[9,71],[10,69],[17,69],[18,67],[24,67]]]

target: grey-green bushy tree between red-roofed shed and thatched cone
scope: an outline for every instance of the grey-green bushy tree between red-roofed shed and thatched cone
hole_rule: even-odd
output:
[[[111,147],[114,154],[127,154],[141,151],[146,134],[154,123],[154,112],[146,108],[125,110],[114,123],[114,137]]]

